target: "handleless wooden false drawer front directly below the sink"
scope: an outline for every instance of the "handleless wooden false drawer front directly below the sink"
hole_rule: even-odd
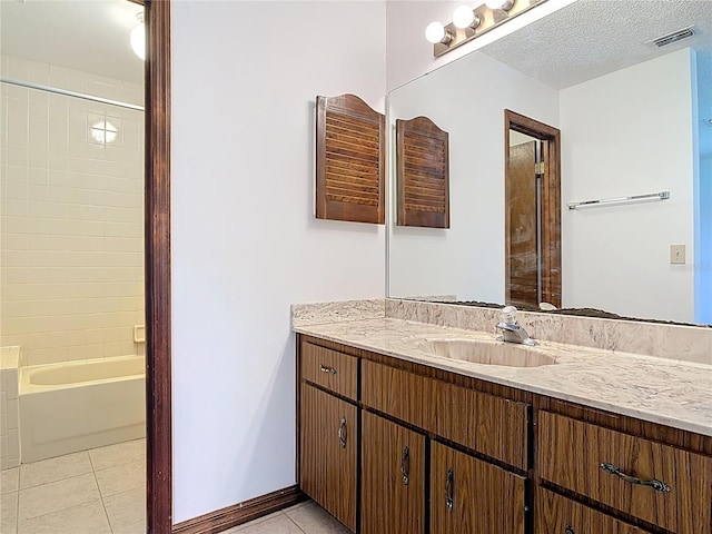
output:
[[[526,471],[528,405],[362,364],[364,405]]]

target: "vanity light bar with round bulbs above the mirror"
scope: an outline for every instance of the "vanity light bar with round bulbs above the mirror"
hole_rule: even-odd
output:
[[[485,0],[474,9],[463,4],[455,9],[449,24],[431,22],[425,37],[433,43],[433,56],[442,56],[546,1]]]

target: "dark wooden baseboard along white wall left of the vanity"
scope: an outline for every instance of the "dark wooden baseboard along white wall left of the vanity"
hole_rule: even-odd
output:
[[[234,526],[257,520],[274,512],[300,503],[307,497],[298,486],[285,487],[276,492],[237,503],[209,514],[194,517],[174,525],[172,534],[215,534]]]

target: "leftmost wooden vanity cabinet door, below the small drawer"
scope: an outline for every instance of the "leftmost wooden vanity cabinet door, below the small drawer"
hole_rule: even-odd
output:
[[[356,531],[356,406],[301,383],[301,491]]]

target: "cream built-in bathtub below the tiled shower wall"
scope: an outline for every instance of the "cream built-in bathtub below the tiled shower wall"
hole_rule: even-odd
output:
[[[19,389],[22,463],[146,435],[142,356],[21,367]]]

